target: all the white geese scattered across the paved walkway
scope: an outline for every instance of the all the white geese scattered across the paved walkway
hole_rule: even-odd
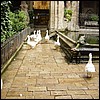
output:
[[[49,41],[50,37],[48,34],[48,30],[46,30],[45,40]],[[34,30],[34,34],[27,36],[27,44],[34,48],[40,41],[42,40],[41,31]],[[57,41],[54,42],[55,47],[60,46],[59,36],[57,36]],[[92,63],[92,53],[89,53],[89,60],[85,66],[85,72],[87,72],[87,78],[93,77],[92,72],[95,72],[95,67]],[[1,79],[1,89],[3,87],[3,80]]]

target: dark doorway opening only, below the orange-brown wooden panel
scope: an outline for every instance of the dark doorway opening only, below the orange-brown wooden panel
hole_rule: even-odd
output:
[[[36,27],[49,27],[49,10],[47,9],[34,9],[30,10],[30,26],[31,28]]]

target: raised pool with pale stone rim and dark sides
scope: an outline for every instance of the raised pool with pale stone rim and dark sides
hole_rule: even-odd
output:
[[[71,63],[75,61],[77,63],[77,59],[79,55],[77,55],[79,52],[81,52],[81,61],[79,59],[79,62],[85,62],[88,61],[88,53],[91,52],[93,53],[93,62],[98,62],[99,60],[99,34],[85,34],[86,36],[86,42],[88,45],[81,45],[78,47],[77,50],[79,51],[72,51],[71,49],[76,47],[77,41],[71,39],[70,37],[66,36],[65,34],[55,31],[56,35],[59,35],[60,37],[60,43],[61,43],[61,48],[66,54],[66,58],[68,63]],[[84,34],[78,34],[78,37],[80,38],[81,35]],[[78,38],[78,39],[79,39]],[[84,48],[84,50],[82,50]],[[81,50],[80,50],[81,49]],[[84,59],[84,60],[83,60]]]

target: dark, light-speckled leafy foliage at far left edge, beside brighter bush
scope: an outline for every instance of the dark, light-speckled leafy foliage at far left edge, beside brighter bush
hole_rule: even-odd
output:
[[[8,12],[10,11],[11,2],[2,1],[1,3],[1,42],[5,41],[11,36],[9,32],[12,31]]]

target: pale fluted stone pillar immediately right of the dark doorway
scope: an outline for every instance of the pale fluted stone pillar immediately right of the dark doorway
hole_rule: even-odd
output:
[[[50,30],[64,27],[64,1],[51,1],[50,4]]]

